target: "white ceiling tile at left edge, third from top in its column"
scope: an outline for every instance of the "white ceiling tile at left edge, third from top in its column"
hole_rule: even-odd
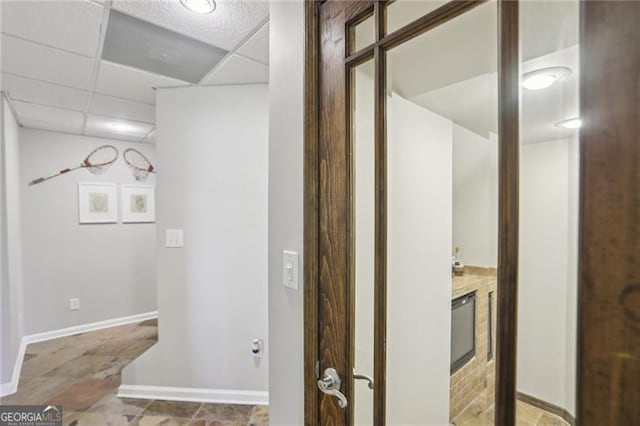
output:
[[[11,99],[79,111],[84,111],[89,98],[89,92],[84,90],[7,73],[2,73],[0,87]]]

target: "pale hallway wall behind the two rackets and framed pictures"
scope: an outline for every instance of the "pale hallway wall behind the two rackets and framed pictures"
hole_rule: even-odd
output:
[[[39,185],[27,182],[80,164],[93,149],[135,148],[155,162],[155,147],[20,129],[24,328],[35,334],[155,311],[155,224],[78,223],[78,182],[137,184],[120,157],[105,173],[77,170]],[[154,175],[140,184],[155,184]],[[70,298],[80,310],[69,310]]]

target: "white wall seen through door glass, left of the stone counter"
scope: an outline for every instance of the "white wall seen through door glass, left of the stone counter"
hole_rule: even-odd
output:
[[[387,423],[447,424],[453,123],[395,93],[388,98],[388,105]],[[374,331],[373,123],[373,81],[365,72],[357,72],[355,369],[370,376]],[[372,423],[372,396],[366,382],[356,381],[353,404],[357,425]]]

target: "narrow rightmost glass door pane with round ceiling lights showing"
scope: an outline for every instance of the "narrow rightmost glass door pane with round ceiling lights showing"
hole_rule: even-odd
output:
[[[579,2],[522,2],[518,376],[575,414]],[[564,123],[564,124],[562,124]],[[518,401],[518,418],[567,424]]]

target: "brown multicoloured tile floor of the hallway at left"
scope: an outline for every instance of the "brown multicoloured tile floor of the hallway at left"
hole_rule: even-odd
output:
[[[122,399],[122,368],[158,339],[156,320],[27,346],[18,392],[0,404],[62,405],[68,426],[266,425],[266,406]]]

